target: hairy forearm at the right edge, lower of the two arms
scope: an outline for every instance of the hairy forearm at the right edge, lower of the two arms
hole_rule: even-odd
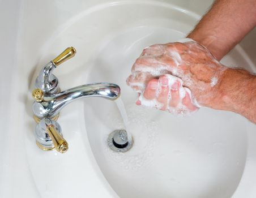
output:
[[[256,123],[256,76],[228,68],[216,85],[214,108],[233,111]]]

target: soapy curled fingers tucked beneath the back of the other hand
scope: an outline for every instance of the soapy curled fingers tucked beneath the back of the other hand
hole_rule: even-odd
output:
[[[157,79],[151,79],[146,89],[136,101],[137,105],[155,107],[174,114],[185,114],[198,109],[193,104],[191,92],[182,86],[180,78],[165,74]]]

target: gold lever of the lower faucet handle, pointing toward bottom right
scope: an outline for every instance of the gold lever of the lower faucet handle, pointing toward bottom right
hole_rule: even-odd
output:
[[[54,147],[60,153],[65,153],[69,149],[69,144],[67,141],[58,133],[53,124],[46,127],[46,132],[48,132],[50,138],[53,141]]]

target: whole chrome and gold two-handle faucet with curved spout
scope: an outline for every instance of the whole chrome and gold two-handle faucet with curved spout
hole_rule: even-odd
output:
[[[86,97],[102,97],[108,100],[116,100],[120,96],[120,87],[112,83],[92,83],[62,91],[59,88],[59,81],[52,74],[54,68],[59,64],[74,57],[75,48],[67,48],[58,57],[45,65],[36,78],[32,96],[35,99],[32,110],[36,126],[36,144],[42,150],[56,149],[65,153],[69,147],[63,139],[61,127],[56,122],[59,111],[72,101]]]

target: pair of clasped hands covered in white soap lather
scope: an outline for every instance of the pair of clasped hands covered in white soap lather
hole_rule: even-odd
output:
[[[156,44],[136,59],[127,85],[139,93],[136,104],[183,113],[217,105],[215,92],[226,68],[197,42]]]

